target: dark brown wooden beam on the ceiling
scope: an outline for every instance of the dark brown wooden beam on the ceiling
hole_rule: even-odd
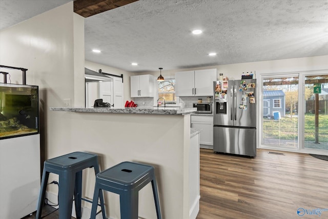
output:
[[[137,1],[138,0],[75,0],[74,12],[83,17],[90,17]]]

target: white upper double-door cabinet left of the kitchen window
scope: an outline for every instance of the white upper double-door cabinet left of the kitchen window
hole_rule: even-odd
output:
[[[130,77],[131,97],[154,97],[154,76],[150,74]]]

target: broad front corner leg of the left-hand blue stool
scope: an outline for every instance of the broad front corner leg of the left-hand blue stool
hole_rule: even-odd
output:
[[[66,182],[66,184],[64,182]],[[72,174],[69,171],[65,171],[59,174],[59,189],[58,189],[59,219],[71,218],[74,184],[75,184],[75,173]]]

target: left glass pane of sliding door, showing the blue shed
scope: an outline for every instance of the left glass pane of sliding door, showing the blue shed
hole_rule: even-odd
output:
[[[298,77],[265,78],[262,95],[261,143],[298,147]]]

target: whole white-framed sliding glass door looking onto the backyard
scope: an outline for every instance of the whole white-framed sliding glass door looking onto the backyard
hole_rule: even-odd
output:
[[[328,71],[261,75],[260,147],[328,152]]]

